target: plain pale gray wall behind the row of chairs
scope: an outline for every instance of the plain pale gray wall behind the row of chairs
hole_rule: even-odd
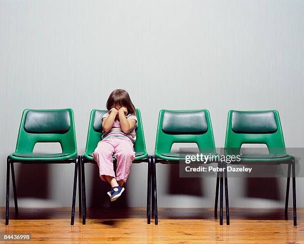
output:
[[[73,108],[82,154],[89,112],[115,88],[142,110],[149,153],[161,108],[208,108],[218,147],[229,109],[277,109],[286,146],[304,147],[303,13],[302,0],[0,0],[0,205],[22,110]],[[73,165],[15,167],[20,206],[71,205]],[[86,169],[88,205],[109,206],[97,168]],[[146,172],[132,167],[117,204],[145,206]],[[214,179],[157,173],[159,206],[213,205]],[[230,205],[283,207],[285,182],[230,179]]]

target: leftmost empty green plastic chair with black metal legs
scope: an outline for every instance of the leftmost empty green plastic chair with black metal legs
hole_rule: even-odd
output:
[[[33,149],[38,142],[59,142],[62,153],[34,154]],[[22,114],[16,151],[7,157],[6,172],[6,214],[5,225],[8,225],[9,213],[9,171],[11,166],[15,213],[18,213],[16,184],[13,163],[75,163],[74,189],[72,201],[71,225],[74,225],[76,184],[78,166],[74,115],[68,109],[25,109]],[[80,186],[80,174],[79,174]],[[81,189],[79,187],[79,211],[81,210]]]

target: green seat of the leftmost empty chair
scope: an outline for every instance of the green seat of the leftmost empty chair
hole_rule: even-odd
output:
[[[31,154],[31,153],[12,153],[9,157],[20,161],[62,161],[75,159],[77,154],[59,153],[59,154]]]

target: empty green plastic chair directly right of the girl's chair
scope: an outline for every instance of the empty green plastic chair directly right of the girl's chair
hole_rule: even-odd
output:
[[[196,143],[201,154],[217,155],[209,111],[206,109],[162,109],[159,111],[155,152],[152,157],[152,211],[155,225],[158,224],[156,163],[170,164],[184,160],[182,154],[170,152],[173,143]],[[219,180],[221,184],[220,224],[223,225],[223,177],[220,174],[217,175],[217,185],[219,185]],[[219,191],[216,192],[215,215],[217,215],[218,195]],[[228,194],[226,204],[228,204]]]

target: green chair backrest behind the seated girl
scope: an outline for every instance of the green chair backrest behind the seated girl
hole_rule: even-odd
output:
[[[89,155],[94,152],[97,143],[101,140],[102,135],[102,116],[107,113],[108,110],[97,110],[93,109],[90,115],[89,127],[87,132],[87,139],[86,139],[86,146],[85,146],[85,155]],[[136,141],[134,143],[134,150],[135,152],[143,152],[145,153],[146,150],[146,142],[143,130],[143,123],[141,112],[137,108],[136,109],[136,116],[138,119],[138,123],[136,124]]]

